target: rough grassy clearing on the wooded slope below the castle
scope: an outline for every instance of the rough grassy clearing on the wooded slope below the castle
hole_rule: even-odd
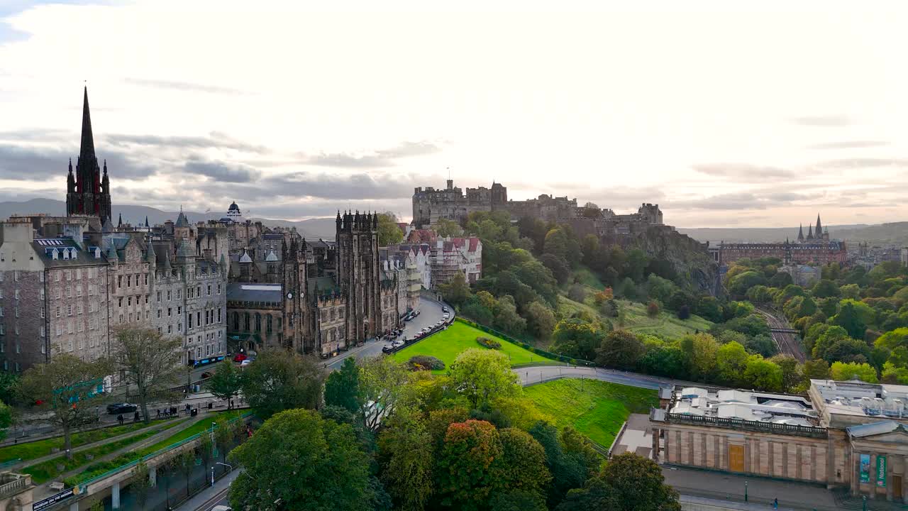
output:
[[[589,304],[581,304],[571,300],[567,296],[558,297],[558,308],[561,314],[570,316],[577,310],[586,310],[590,314],[599,315],[596,308]],[[587,302],[592,303],[592,298],[588,297]],[[616,300],[622,310],[625,311],[625,324],[619,326],[617,318],[605,317],[612,322],[616,328],[624,328],[635,334],[649,334],[652,336],[663,336],[669,339],[676,339],[686,334],[693,334],[697,330],[706,332],[713,323],[700,316],[691,315],[687,319],[678,319],[675,313],[670,311],[661,311],[656,317],[646,316],[646,305],[628,300]]]

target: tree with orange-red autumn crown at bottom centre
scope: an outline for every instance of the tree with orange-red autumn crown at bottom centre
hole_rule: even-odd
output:
[[[448,426],[439,453],[438,480],[442,506],[477,511],[503,482],[492,464],[502,456],[498,431],[486,421],[469,419]]]

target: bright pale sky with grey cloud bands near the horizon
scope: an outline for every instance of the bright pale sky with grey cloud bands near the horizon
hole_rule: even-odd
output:
[[[0,0],[0,201],[64,199],[87,84],[114,204],[410,219],[450,175],[684,227],[908,220],[908,5],[325,4]]]

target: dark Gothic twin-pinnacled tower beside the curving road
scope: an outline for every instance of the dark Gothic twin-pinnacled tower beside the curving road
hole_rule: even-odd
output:
[[[338,285],[347,299],[349,343],[382,331],[379,271],[379,216],[338,212]]]

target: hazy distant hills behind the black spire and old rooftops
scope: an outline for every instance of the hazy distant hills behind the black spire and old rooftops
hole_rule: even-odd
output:
[[[148,216],[148,223],[151,225],[163,224],[167,220],[176,221],[178,211],[162,211],[155,207],[147,205],[113,205],[114,223],[119,215],[123,215],[123,222],[133,225],[143,224],[145,216]],[[31,199],[22,202],[0,202],[0,219],[8,218],[10,215],[34,215],[44,213],[46,215],[63,216],[66,215],[66,203],[54,199]],[[189,218],[193,224],[200,220],[217,220],[224,215],[224,212],[199,213],[197,211],[184,210],[183,214]],[[261,220],[265,225],[280,225],[296,227],[297,231],[303,237],[311,239],[334,239],[334,218],[311,218],[299,222],[289,220],[276,220],[271,218],[251,218],[251,220]]]

